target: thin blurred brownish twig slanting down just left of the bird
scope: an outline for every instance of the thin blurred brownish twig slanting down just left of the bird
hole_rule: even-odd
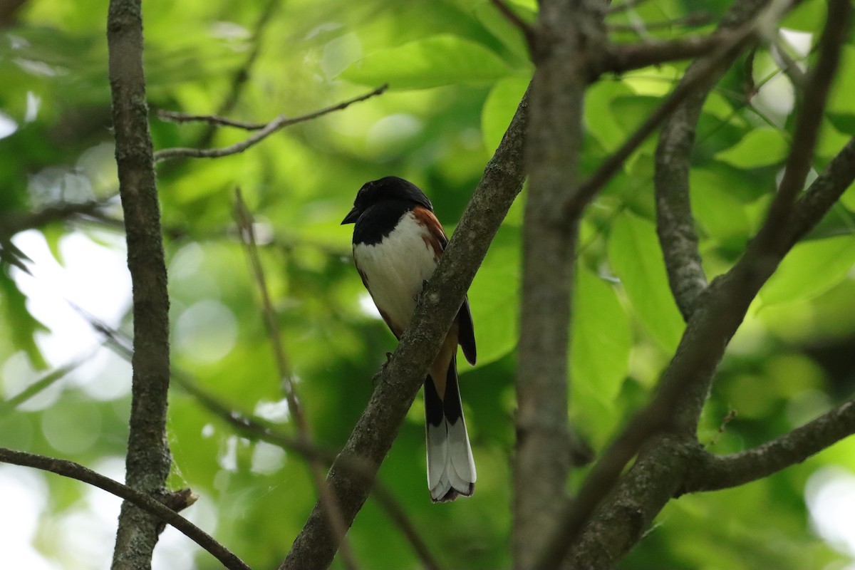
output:
[[[264,277],[264,267],[262,267],[262,262],[258,257],[252,214],[250,213],[250,210],[246,208],[244,198],[240,194],[240,189],[235,190],[234,197],[235,220],[238,225],[241,241],[245,246],[246,256],[252,267],[252,274],[258,285],[258,291],[261,293],[262,314],[264,315],[264,321],[268,328],[268,334],[270,335],[270,341],[272,343],[274,357],[276,359],[276,367],[278,368],[280,378],[282,379],[282,387],[285,391],[288,408],[291,411],[294,422],[297,424],[299,437],[303,439],[304,442],[309,442],[311,440],[309,423],[306,421],[303,408],[297,397],[297,389],[294,383],[292,367],[288,361],[288,357],[286,356],[285,344],[282,342],[282,337],[279,331],[279,321],[276,318],[273,303],[270,301],[267,279]],[[329,524],[333,528],[336,538],[339,540],[341,557],[345,562],[345,567],[355,569],[357,568],[357,561],[353,556],[350,544],[345,536],[347,534],[347,525],[345,525],[344,516],[341,514],[341,508],[339,508],[338,502],[336,502],[335,497],[333,497],[332,492],[329,490],[327,480],[321,470],[321,464],[317,461],[310,460],[309,467],[312,473],[312,479],[315,481],[315,488],[318,491],[318,497],[326,508]]]

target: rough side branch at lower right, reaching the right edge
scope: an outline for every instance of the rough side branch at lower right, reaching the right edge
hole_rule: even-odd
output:
[[[855,401],[850,401],[753,450],[731,455],[713,455],[699,450],[699,457],[693,461],[679,492],[716,491],[769,477],[853,433]]]

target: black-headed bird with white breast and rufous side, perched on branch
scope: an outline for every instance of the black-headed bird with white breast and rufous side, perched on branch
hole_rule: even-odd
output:
[[[380,316],[400,340],[422,288],[448,244],[433,204],[412,182],[386,176],[359,189],[353,209],[341,224],[354,224],[353,261]],[[424,381],[432,502],[470,497],[475,491],[475,460],[457,384],[457,344],[474,365],[475,329],[469,298],[464,298]]]

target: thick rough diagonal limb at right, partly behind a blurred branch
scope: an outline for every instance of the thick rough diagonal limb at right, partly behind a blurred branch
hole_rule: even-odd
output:
[[[641,426],[646,432],[669,427],[663,426],[661,417],[657,419],[657,414],[649,411],[658,408],[662,414],[673,416],[670,427],[680,433],[651,438],[634,467],[614,491],[611,491],[610,484],[597,484],[594,478],[602,472],[598,466],[594,467],[583,489],[589,489],[590,482],[600,497],[609,494],[610,498],[598,509],[578,540],[569,541],[568,537],[572,535],[567,534],[560,538],[572,544],[566,561],[569,566],[613,566],[641,538],[664,504],[681,489],[697,445],[693,430],[725,346],[740,325],[753,297],[774,272],[786,250],[822,219],[853,180],[855,138],[834,157],[796,203],[792,220],[787,224],[781,241],[771,250],[759,247],[758,242],[753,241],[737,265],[726,276],[712,282],[688,322],[674,360],[659,382],[657,397],[641,412],[651,420],[646,426]],[[634,421],[630,423],[630,430],[637,427]],[[617,455],[609,450],[600,461],[614,461]],[[582,494],[580,492],[580,497]],[[568,517],[571,514],[580,516],[572,507]],[[581,518],[587,520],[587,515]],[[578,529],[571,528],[574,533]],[[604,544],[610,547],[604,549]]]

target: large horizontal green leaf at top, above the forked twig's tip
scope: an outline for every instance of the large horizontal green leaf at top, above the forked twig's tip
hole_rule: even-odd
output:
[[[483,45],[451,35],[433,36],[381,50],[345,69],[341,77],[391,89],[428,89],[459,83],[490,83],[509,72]]]

